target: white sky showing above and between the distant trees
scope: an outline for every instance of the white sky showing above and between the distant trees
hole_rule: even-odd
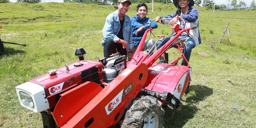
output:
[[[17,0],[10,0],[10,1],[11,2],[17,2]],[[60,3],[62,3],[63,2],[63,0],[41,0],[41,1],[42,1],[42,3],[45,3],[45,2],[60,2]],[[231,4],[231,1],[232,0],[230,0],[229,4]],[[238,4],[239,0],[236,0],[236,1],[237,1],[237,4]],[[245,2],[246,6],[250,6],[251,2],[252,2],[252,0],[242,0],[242,1]],[[216,3],[216,5],[220,5],[220,4],[228,5],[228,0],[215,0],[215,3]]]

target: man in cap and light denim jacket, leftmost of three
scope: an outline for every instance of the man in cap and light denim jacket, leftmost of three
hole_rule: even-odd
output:
[[[131,4],[130,0],[118,0],[118,9],[107,16],[101,41],[104,57],[116,52],[132,56],[132,22],[125,14]]]

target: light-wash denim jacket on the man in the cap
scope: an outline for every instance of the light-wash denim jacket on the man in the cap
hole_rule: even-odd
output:
[[[120,30],[120,21],[118,16],[118,10],[110,13],[107,18],[103,28],[103,39],[101,45],[105,45],[105,39],[112,39],[114,42],[118,41],[119,38],[116,36]],[[124,41],[128,43],[126,51],[133,48],[132,44],[132,22],[128,15],[124,15],[124,28],[123,28]]]

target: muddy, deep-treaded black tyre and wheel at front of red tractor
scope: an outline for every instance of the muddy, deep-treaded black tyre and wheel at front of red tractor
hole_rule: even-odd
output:
[[[121,128],[162,128],[163,125],[162,103],[152,96],[142,96],[126,112]]]

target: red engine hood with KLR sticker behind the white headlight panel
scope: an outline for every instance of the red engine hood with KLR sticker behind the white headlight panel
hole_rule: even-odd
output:
[[[60,94],[63,92],[67,92],[68,90],[87,81],[100,84],[100,81],[102,80],[102,64],[100,62],[80,60],[68,65],[67,69],[69,70],[67,71],[66,67],[62,67],[56,70],[56,74],[44,74],[28,81],[29,83],[35,83],[44,88],[44,98],[48,100],[50,109],[56,106],[58,100],[60,99]],[[17,93],[19,94],[19,92],[27,92],[28,94],[33,94],[31,91],[32,90],[28,92],[26,90],[22,90],[22,88],[19,88]],[[34,99],[33,102],[38,101],[37,99]]]

